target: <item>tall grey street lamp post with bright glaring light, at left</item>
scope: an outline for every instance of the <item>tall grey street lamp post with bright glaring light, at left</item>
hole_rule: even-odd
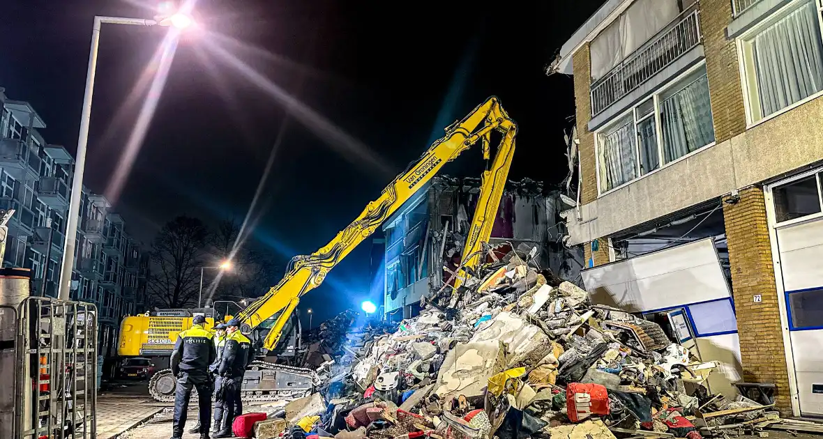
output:
[[[66,245],[63,247],[63,264],[60,268],[59,298],[69,300],[69,288],[72,283],[72,269],[74,266],[74,248],[77,241],[77,223],[80,221],[80,201],[83,190],[83,171],[86,167],[86,144],[89,141],[89,122],[91,121],[91,96],[95,89],[95,71],[97,68],[97,49],[100,46],[100,25],[110,23],[114,25],[173,25],[178,28],[192,24],[191,18],[183,14],[175,14],[163,20],[155,21],[145,18],[124,18],[119,16],[95,16],[91,28],[91,52],[89,53],[89,67],[86,72],[86,93],[83,95],[83,109],[80,116],[80,133],[77,136],[77,158],[74,164],[74,178],[72,179],[72,196],[68,205],[68,221],[66,224]]]

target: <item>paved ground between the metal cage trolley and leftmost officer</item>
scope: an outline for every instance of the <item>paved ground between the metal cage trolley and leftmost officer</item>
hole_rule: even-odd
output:
[[[97,439],[118,437],[162,410],[148,395],[145,382],[114,386],[97,395]]]

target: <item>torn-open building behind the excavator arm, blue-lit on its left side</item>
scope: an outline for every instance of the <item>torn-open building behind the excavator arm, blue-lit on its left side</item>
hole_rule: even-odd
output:
[[[479,178],[435,177],[384,223],[385,315],[416,316],[421,297],[439,289],[459,264],[469,212],[475,210]],[[524,179],[509,181],[500,201],[490,244],[499,255],[518,245],[537,247],[537,263],[569,280],[579,280],[583,249],[566,247],[560,212],[568,206],[560,191]]]

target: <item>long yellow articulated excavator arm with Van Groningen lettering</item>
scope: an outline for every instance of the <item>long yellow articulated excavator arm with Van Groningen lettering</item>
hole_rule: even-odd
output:
[[[360,242],[374,233],[380,224],[383,224],[421,186],[438,173],[444,164],[456,159],[477,141],[482,141],[483,155],[488,159],[490,135],[493,130],[503,134],[501,146],[498,146],[498,155],[500,155],[500,150],[508,151],[508,158],[504,159],[504,166],[499,167],[499,172],[494,172],[492,169],[491,173],[486,172],[489,176],[484,173],[484,182],[496,183],[498,178],[502,178],[500,188],[495,188],[494,191],[488,191],[486,194],[487,199],[484,206],[487,205],[487,207],[484,207],[482,218],[493,217],[497,206],[500,205],[502,186],[505,182],[504,173],[509,169],[510,155],[514,150],[514,135],[517,131],[517,125],[505,113],[495,97],[486,99],[486,102],[478,105],[463,120],[446,128],[444,137],[435,141],[412,167],[389,183],[380,197],[371,201],[360,216],[346,226],[346,229],[337,233],[337,236],[326,246],[309,256],[293,257],[283,279],[269,289],[263,297],[258,298],[239,313],[238,318],[242,324],[246,329],[253,328],[282,310],[283,312],[268,331],[266,340],[263,342],[265,349],[274,349],[280,339],[282,328],[300,301],[300,297],[322,284],[329,270],[342,261]],[[511,145],[503,145],[505,142]],[[495,157],[495,163],[497,161],[498,157]],[[494,210],[489,215],[488,211],[492,209],[492,206]],[[475,215],[474,222],[477,222],[478,218],[480,217]],[[477,232],[473,232],[474,241],[484,236],[487,239],[488,233],[491,232],[491,225],[487,228],[483,224],[478,224],[478,226]],[[472,235],[469,239],[472,241]]]

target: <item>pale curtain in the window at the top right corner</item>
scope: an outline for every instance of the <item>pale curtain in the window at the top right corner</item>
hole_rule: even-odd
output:
[[[823,89],[823,47],[815,2],[760,32],[751,43],[760,116],[784,109]]]

